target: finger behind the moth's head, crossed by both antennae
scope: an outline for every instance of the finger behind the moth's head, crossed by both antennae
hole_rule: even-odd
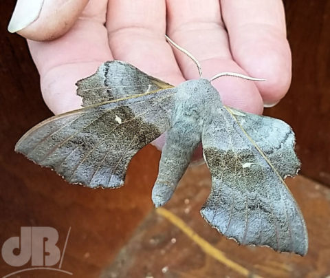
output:
[[[219,1],[168,0],[166,3],[168,35],[197,58],[205,78],[219,72],[246,74],[232,59]],[[192,61],[184,54],[175,53],[184,76],[198,78]],[[252,113],[263,110],[261,96],[252,81],[221,77],[212,84],[218,89],[224,104]]]

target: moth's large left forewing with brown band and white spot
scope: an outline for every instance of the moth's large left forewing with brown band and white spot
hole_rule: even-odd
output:
[[[54,116],[25,133],[15,150],[67,182],[121,186],[135,153],[168,129],[174,93],[165,89]]]

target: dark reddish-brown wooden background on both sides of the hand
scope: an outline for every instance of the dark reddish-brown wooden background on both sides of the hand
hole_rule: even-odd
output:
[[[76,277],[97,277],[151,211],[159,152],[148,146],[138,153],[126,185],[118,191],[69,186],[52,171],[14,153],[21,135],[51,113],[41,98],[25,40],[6,30],[13,9],[14,1],[0,2],[0,244],[19,235],[21,226],[53,226],[63,247],[72,226],[63,268],[74,270]],[[265,114],[292,125],[303,163],[300,173],[330,186],[330,1],[285,1],[285,10],[292,87]],[[12,271],[0,258],[0,275]],[[52,275],[47,277],[59,277]]]

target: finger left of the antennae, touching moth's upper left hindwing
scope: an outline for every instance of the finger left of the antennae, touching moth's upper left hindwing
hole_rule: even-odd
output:
[[[107,29],[115,59],[127,61],[173,85],[184,81],[164,37],[165,1],[109,1]]]

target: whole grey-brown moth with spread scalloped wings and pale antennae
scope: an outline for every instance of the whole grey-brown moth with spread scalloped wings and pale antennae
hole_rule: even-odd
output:
[[[192,54],[167,39],[195,61],[201,76]],[[300,167],[294,132],[282,120],[223,105],[211,84],[223,75],[258,80],[222,73],[174,87],[128,63],[108,61],[78,81],[82,109],[36,125],[15,150],[72,184],[113,189],[124,184],[135,153],[167,132],[152,192],[155,206],[162,206],[202,142],[212,175],[201,208],[206,222],[239,244],[305,255],[305,221],[284,182]]]

